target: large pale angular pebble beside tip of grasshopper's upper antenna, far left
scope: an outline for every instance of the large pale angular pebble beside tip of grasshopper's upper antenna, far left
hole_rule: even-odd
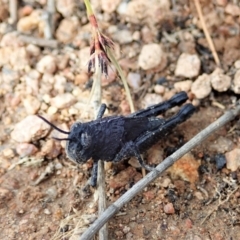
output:
[[[36,115],[30,115],[17,123],[11,132],[11,138],[19,143],[29,143],[45,137],[50,126]]]

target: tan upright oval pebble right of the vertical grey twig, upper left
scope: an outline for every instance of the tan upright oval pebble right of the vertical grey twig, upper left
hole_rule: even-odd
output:
[[[57,40],[64,44],[73,42],[74,37],[77,35],[78,26],[79,22],[77,18],[63,19],[56,31]]]

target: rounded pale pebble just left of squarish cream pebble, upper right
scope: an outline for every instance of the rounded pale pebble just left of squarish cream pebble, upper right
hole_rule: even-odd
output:
[[[166,55],[163,52],[161,45],[151,43],[143,46],[138,58],[138,64],[144,70],[152,69],[161,65],[161,68],[163,69],[166,66],[165,59]]]

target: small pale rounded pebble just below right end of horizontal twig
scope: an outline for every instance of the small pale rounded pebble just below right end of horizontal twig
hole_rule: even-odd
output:
[[[37,63],[36,69],[40,73],[53,74],[57,70],[56,59],[51,55],[46,55]]]

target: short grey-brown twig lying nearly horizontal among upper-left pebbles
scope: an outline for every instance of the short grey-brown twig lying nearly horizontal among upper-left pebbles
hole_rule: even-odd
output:
[[[40,47],[49,47],[49,48],[58,47],[58,41],[53,39],[35,38],[35,37],[27,36],[24,34],[19,34],[18,38],[24,43],[31,43]]]

